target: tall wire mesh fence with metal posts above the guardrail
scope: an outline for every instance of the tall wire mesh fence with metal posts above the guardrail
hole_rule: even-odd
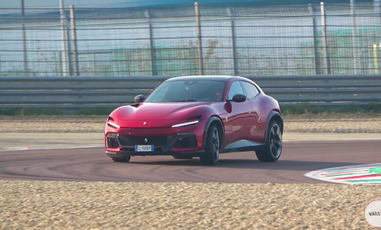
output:
[[[0,75],[379,73],[380,7],[0,9]],[[201,46],[200,46],[201,44]]]

